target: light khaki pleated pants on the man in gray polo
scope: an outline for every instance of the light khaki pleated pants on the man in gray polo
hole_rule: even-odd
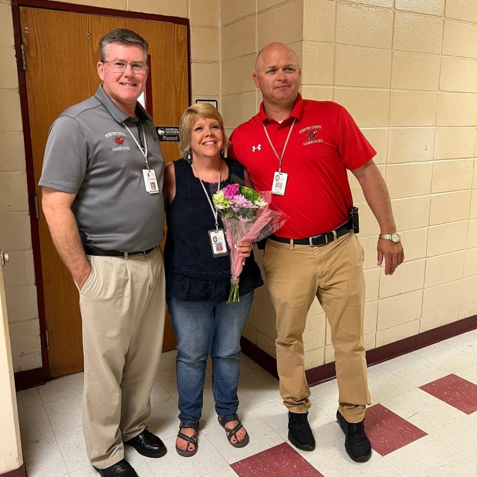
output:
[[[148,255],[88,257],[79,292],[83,326],[83,433],[89,460],[105,469],[124,458],[123,441],[146,427],[164,332],[160,248]]]

